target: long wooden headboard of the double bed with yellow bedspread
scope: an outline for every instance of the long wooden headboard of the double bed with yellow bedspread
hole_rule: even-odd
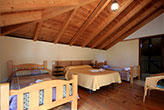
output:
[[[72,61],[55,61],[56,66],[76,66],[76,65],[91,65],[92,60],[72,60]]]

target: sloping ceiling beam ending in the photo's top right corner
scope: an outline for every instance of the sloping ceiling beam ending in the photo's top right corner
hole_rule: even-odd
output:
[[[156,3],[153,2],[151,5],[152,6],[150,7],[145,7],[144,8],[145,10],[141,10],[139,12],[139,15],[135,15],[135,17],[133,17],[134,20],[132,20],[132,22],[130,22],[126,26],[123,26],[123,29],[121,29],[120,31],[117,31],[117,33],[114,36],[112,36],[110,39],[107,39],[102,45],[100,45],[98,49],[103,49],[104,47],[106,47],[107,45],[109,45],[110,43],[118,39],[118,37],[122,36],[127,30],[132,28],[134,25],[136,25],[138,22],[146,18],[150,13],[152,13],[154,10],[160,7],[162,3],[161,1],[156,1]]]

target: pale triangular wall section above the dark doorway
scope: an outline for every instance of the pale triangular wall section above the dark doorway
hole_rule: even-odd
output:
[[[164,34],[164,13],[128,36],[126,39],[140,38],[159,34]]]

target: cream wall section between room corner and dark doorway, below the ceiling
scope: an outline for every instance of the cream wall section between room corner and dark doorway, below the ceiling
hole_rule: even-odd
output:
[[[139,40],[122,41],[107,51],[107,62],[113,67],[137,66],[139,64]]]

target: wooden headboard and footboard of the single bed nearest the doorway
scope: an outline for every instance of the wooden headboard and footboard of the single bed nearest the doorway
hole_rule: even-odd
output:
[[[96,68],[100,68],[102,65],[107,65],[107,61],[104,61],[104,62],[98,62],[98,61],[95,61],[95,67]],[[135,71],[135,69],[137,69],[137,73],[138,73],[138,80],[140,80],[140,66],[130,66],[130,84],[133,84],[133,73]],[[123,72],[128,72],[129,71],[126,71],[124,70]]]

